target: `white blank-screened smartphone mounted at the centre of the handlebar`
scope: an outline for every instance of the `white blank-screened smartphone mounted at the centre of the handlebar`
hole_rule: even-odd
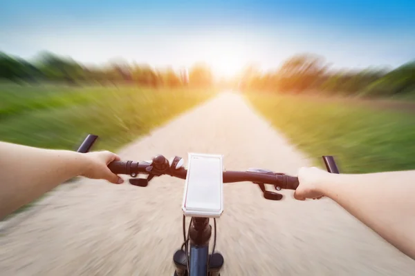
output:
[[[189,153],[182,209],[186,217],[221,216],[223,155]]]

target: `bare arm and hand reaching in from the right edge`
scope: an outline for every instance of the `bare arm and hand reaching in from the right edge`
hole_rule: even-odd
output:
[[[297,199],[326,196],[415,259],[415,171],[334,175],[301,168]]]

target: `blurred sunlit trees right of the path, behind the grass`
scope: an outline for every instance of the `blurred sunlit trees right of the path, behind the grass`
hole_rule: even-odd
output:
[[[243,72],[242,90],[359,95],[366,97],[415,96],[415,60],[394,70],[334,70],[319,55],[300,54],[287,59],[272,72],[260,72],[255,66]]]

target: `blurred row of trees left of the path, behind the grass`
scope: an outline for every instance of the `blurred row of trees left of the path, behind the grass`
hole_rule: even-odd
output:
[[[155,69],[122,59],[110,60],[104,66],[85,66],[69,57],[51,52],[42,52],[33,61],[0,52],[0,79],[18,83],[131,83],[151,87],[178,87],[189,82],[191,85],[210,86],[213,82],[212,72],[204,63],[196,63],[188,73],[176,72],[172,68]]]

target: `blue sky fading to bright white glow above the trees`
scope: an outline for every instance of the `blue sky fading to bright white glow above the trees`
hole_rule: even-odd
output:
[[[205,62],[224,76],[250,63],[278,68],[300,52],[336,68],[396,67],[415,59],[414,14],[413,0],[1,0],[0,51],[94,64]]]

